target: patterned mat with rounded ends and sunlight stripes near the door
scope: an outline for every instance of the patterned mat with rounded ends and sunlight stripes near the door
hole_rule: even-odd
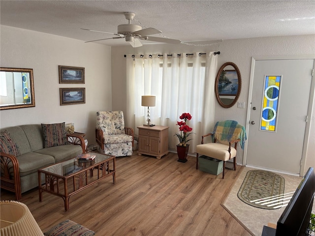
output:
[[[248,171],[237,194],[244,203],[263,209],[283,207],[284,177],[270,171]]]

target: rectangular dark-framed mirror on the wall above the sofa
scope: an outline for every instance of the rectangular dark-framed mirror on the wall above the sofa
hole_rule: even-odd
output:
[[[35,106],[33,69],[0,68],[0,110]]]

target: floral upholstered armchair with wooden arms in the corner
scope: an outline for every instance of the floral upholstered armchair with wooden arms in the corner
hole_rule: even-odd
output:
[[[96,112],[95,137],[100,152],[114,156],[131,156],[133,129],[125,127],[122,111]]]

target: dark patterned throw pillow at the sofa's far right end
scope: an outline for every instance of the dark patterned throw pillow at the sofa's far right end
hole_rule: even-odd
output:
[[[44,137],[44,147],[61,146],[68,144],[65,123],[41,124]]]

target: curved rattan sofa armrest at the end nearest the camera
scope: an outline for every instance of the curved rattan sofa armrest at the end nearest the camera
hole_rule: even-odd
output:
[[[4,152],[0,152],[0,161],[0,186],[10,192],[15,192],[18,201],[22,198],[19,162],[15,156]]]

